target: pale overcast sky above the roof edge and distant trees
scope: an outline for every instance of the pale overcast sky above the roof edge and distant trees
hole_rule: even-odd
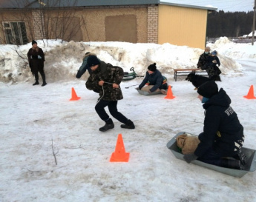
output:
[[[254,0],[162,0],[165,2],[171,2],[175,4],[191,4],[197,6],[206,6],[206,7],[217,7],[217,11],[224,10],[225,12],[234,12],[234,11],[253,11],[255,4]]]

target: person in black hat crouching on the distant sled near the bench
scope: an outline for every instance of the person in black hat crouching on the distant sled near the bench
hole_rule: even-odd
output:
[[[149,93],[160,91],[163,94],[167,93],[168,84],[167,79],[157,70],[156,63],[148,66],[148,71],[145,74],[145,78],[139,86],[140,90],[148,91]],[[144,87],[148,83],[147,87]]]

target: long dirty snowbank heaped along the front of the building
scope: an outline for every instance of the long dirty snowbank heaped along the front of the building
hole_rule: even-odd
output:
[[[86,52],[96,53],[103,61],[122,67],[126,72],[134,67],[138,75],[145,75],[148,65],[156,62],[157,68],[168,79],[173,79],[173,70],[176,68],[196,68],[198,58],[203,53],[203,50],[198,48],[168,43],[160,45],[64,41],[62,44],[61,40],[39,40],[37,42],[45,52],[45,74],[47,81],[50,82],[73,80]],[[215,44],[210,45],[212,49],[220,53],[218,56],[222,73],[236,75],[237,72],[240,73],[241,66],[232,59],[232,56],[237,54],[236,52],[223,51],[222,47],[226,47],[227,44],[231,47],[235,45],[227,38],[221,38]],[[33,80],[27,64],[27,51],[30,47],[30,43],[20,47],[0,46],[0,81],[17,83]],[[227,55],[229,57],[226,57]],[[83,77],[88,77],[88,74]]]

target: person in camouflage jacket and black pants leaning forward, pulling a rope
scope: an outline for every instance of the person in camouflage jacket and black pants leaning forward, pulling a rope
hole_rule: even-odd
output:
[[[104,109],[107,106],[111,115],[123,123],[121,124],[122,128],[134,129],[134,123],[117,110],[117,101],[123,98],[122,90],[119,87],[124,74],[122,68],[99,61],[95,55],[88,57],[87,64],[88,67],[91,67],[92,72],[85,86],[88,90],[99,92],[99,101],[95,106],[95,110],[99,118],[105,121],[105,126],[99,128],[99,130],[105,132],[114,128],[112,119],[109,118]]]

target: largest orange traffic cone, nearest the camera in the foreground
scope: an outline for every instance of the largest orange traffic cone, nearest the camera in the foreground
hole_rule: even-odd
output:
[[[122,134],[118,135],[115,152],[111,155],[111,162],[128,162],[130,153],[125,152],[125,145],[122,141]]]

